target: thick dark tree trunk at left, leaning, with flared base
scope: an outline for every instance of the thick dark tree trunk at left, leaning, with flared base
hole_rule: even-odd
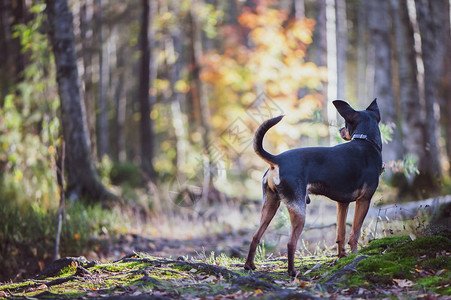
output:
[[[61,101],[61,123],[66,143],[67,189],[69,199],[88,198],[95,202],[111,199],[96,173],[90,153],[85,106],[80,91],[72,13],[67,0],[47,0],[49,35],[57,71]]]

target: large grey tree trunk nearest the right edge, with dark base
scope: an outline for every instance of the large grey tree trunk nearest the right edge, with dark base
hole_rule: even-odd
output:
[[[436,189],[441,181],[440,147],[439,147],[439,117],[438,105],[438,83],[439,74],[444,62],[444,24],[445,1],[417,0],[415,7],[417,11],[418,27],[421,35],[421,55],[424,65],[424,93],[426,109],[426,160],[427,170],[424,170],[417,178],[417,184],[430,186]],[[449,53],[448,53],[449,55]]]

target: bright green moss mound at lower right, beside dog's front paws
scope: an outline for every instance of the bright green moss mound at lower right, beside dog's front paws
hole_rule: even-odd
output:
[[[409,236],[375,240],[360,251],[369,257],[358,263],[356,273],[348,275],[346,286],[390,286],[393,279],[408,279],[426,291],[449,293],[449,287],[445,286],[451,279],[449,272],[442,271],[439,276],[425,278],[420,276],[424,270],[431,274],[449,270],[451,257],[443,254],[448,249],[451,249],[449,234],[424,236],[413,241]]]

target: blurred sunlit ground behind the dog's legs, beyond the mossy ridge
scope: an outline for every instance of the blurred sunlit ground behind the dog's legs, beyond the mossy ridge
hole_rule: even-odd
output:
[[[336,203],[324,197],[311,197],[307,205],[304,231],[298,242],[300,256],[336,254]],[[378,205],[379,204],[379,205]],[[391,203],[382,206],[381,197],[376,195],[362,227],[360,246],[370,240],[390,235],[417,235],[425,228],[427,211],[420,211],[415,217],[403,221],[396,215],[396,206]],[[352,203],[347,217],[347,234],[351,231],[355,204]],[[146,220],[137,214],[124,226],[123,235],[111,242],[111,248],[104,255],[91,252],[88,259],[117,259],[132,252],[146,252],[165,257],[199,257],[212,251],[219,255],[245,258],[252,236],[258,228],[261,202],[192,205],[176,207],[174,211],[152,214]],[[395,216],[395,217],[393,217]],[[124,220],[123,220],[124,221]],[[266,255],[286,254],[290,234],[289,216],[284,205],[274,217],[262,238]],[[347,249],[349,251],[349,248]]]

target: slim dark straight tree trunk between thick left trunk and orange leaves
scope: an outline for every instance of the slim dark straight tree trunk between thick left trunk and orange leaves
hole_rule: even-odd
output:
[[[150,118],[152,111],[152,103],[150,102],[150,58],[153,44],[153,30],[151,28],[152,16],[155,15],[154,0],[142,0],[142,19],[140,32],[140,47],[141,47],[141,70],[139,78],[139,104],[141,111],[141,168],[143,170],[145,181],[153,180],[155,177],[155,170],[153,168],[153,148],[154,135],[153,124]]]

